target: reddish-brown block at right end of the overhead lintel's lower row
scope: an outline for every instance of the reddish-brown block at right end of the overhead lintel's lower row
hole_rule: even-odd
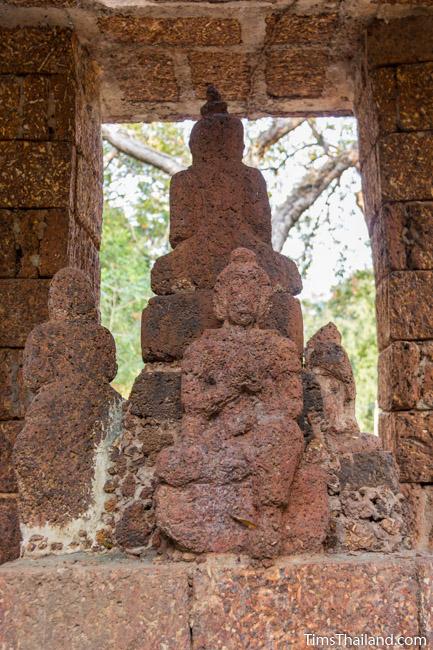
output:
[[[308,57],[308,71],[302,65]],[[266,86],[272,97],[320,97],[326,84],[329,53],[326,49],[292,47],[271,49],[266,57]]]

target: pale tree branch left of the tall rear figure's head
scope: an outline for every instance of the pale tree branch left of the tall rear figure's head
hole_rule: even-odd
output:
[[[156,149],[147,147],[139,140],[135,140],[119,131],[114,131],[106,125],[102,126],[101,132],[102,138],[121,153],[131,156],[146,165],[152,165],[152,167],[160,169],[169,176],[173,176],[173,174],[186,169],[186,167],[173,156],[169,156],[166,153],[161,153],[160,151],[156,151]]]

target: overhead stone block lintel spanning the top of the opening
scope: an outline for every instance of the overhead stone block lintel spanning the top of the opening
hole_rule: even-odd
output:
[[[214,83],[231,111],[350,114],[350,62],[375,17],[431,0],[3,0],[0,24],[70,26],[102,72],[106,122],[196,118]]]

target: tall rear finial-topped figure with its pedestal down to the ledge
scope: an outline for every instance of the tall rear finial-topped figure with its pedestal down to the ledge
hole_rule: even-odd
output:
[[[155,460],[179,436],[180,361],[205,329],[219,328],[213,288],[238,247],[248,248],[269,277],[269,310],[257,324],[292,339],[303,351],[302,288],[295,264],[272,250],[271,211],[262,174],[242,163],[243,126],[229,115],[212,88],[194,125],[193,162],[171,180],[170,241],[173,251],[157,260],[152,287],[157,294],[143,311],[142,354],[125,414],[115,495],[116,541],[135,553],[154,539]],[[117,464],[116,464],[117,466]]]

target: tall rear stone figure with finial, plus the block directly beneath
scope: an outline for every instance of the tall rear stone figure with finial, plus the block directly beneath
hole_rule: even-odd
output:
[[[219,94],[208,90],[202,118],[190,137],[192,165],[170,186],[173,251],[152,269],[157,297],[143,312],[144,361],[171,361],[207,327],[218,327],[212,289],[239,246],[253,250],[274,294],[264,326],[294,337],[302,352],[302,315],[293,298],[302,289],[294,262],[272,250],[271,210],[265,180],[242,162],[243,126]],[[265,317],[264,317],[265,318]]]

